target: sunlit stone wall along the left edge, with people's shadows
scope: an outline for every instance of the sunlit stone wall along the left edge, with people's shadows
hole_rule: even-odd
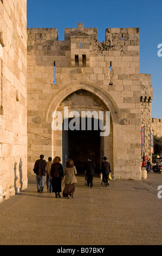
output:
[[[27,187],[27,1],[0,1],[1,198]]]

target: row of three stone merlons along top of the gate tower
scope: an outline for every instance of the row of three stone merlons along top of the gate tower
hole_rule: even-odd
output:
[[[59,40],[57,28],[28,28],[28,40]],[[77,28],[64,28],[64,40],[68,40],[74,35],[80,37],[90,36],[93,40],[98,40],[98,28],[84,28],[83,23],[77,23]],[[130,46],[139,45],[139,28],[106,28],[105,41],[114,44]],[[129,43],[128,43],[129,41]]]

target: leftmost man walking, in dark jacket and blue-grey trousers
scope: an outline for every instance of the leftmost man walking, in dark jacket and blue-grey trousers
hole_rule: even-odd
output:
[[[34,173],[36,174],[37,192],[43,193],[44,179],[46,177],[46,160],[43,159],[44,155],[40,155],[40,159],[36,160],[34,164]]]

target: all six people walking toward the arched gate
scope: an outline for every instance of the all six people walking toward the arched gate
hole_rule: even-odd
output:
[[[108,183],[108,175],[111,172],[111,167],[109,162],[107,162],[107,157],[103,157],[103,163],[101,164],[100,174],[102,174],[103,182],[106,186]],[[44,180],[47,173],[47,192],[55,193],[55,197],[61,197],[61,183],[64,180],[64,190],[62,192],[63,197],[73,197],[75,191],[76,180],[76,168],[72,159],[68,159],[66,165],[62,167],[60,163],[61,159],[59,156],[56,156],[52,161],[52,158],[48,158],[48,162],[44,160],[44,155],[40,155],[40,159],[36,160],[34,165],[34,173],[36,174],[37,182],[37,192],[43,193]],[[88,157],[88,162],[85,166],[85,174],[87,180],[87,186],[90,188],[93,187],[93,177],[95,175],[95,163],[91,160],[91,157]],[[65,175],[65,178],[64,178]]]

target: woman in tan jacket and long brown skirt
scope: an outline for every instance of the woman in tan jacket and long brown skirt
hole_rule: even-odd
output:
[[[72,159],[68,159],[66,166],[64,167],[64,183],[66,184],[62,192],[63,197],[73,197],[75,191],[75,183],[77,182],[75,175],[77,174],[74,162]]]

